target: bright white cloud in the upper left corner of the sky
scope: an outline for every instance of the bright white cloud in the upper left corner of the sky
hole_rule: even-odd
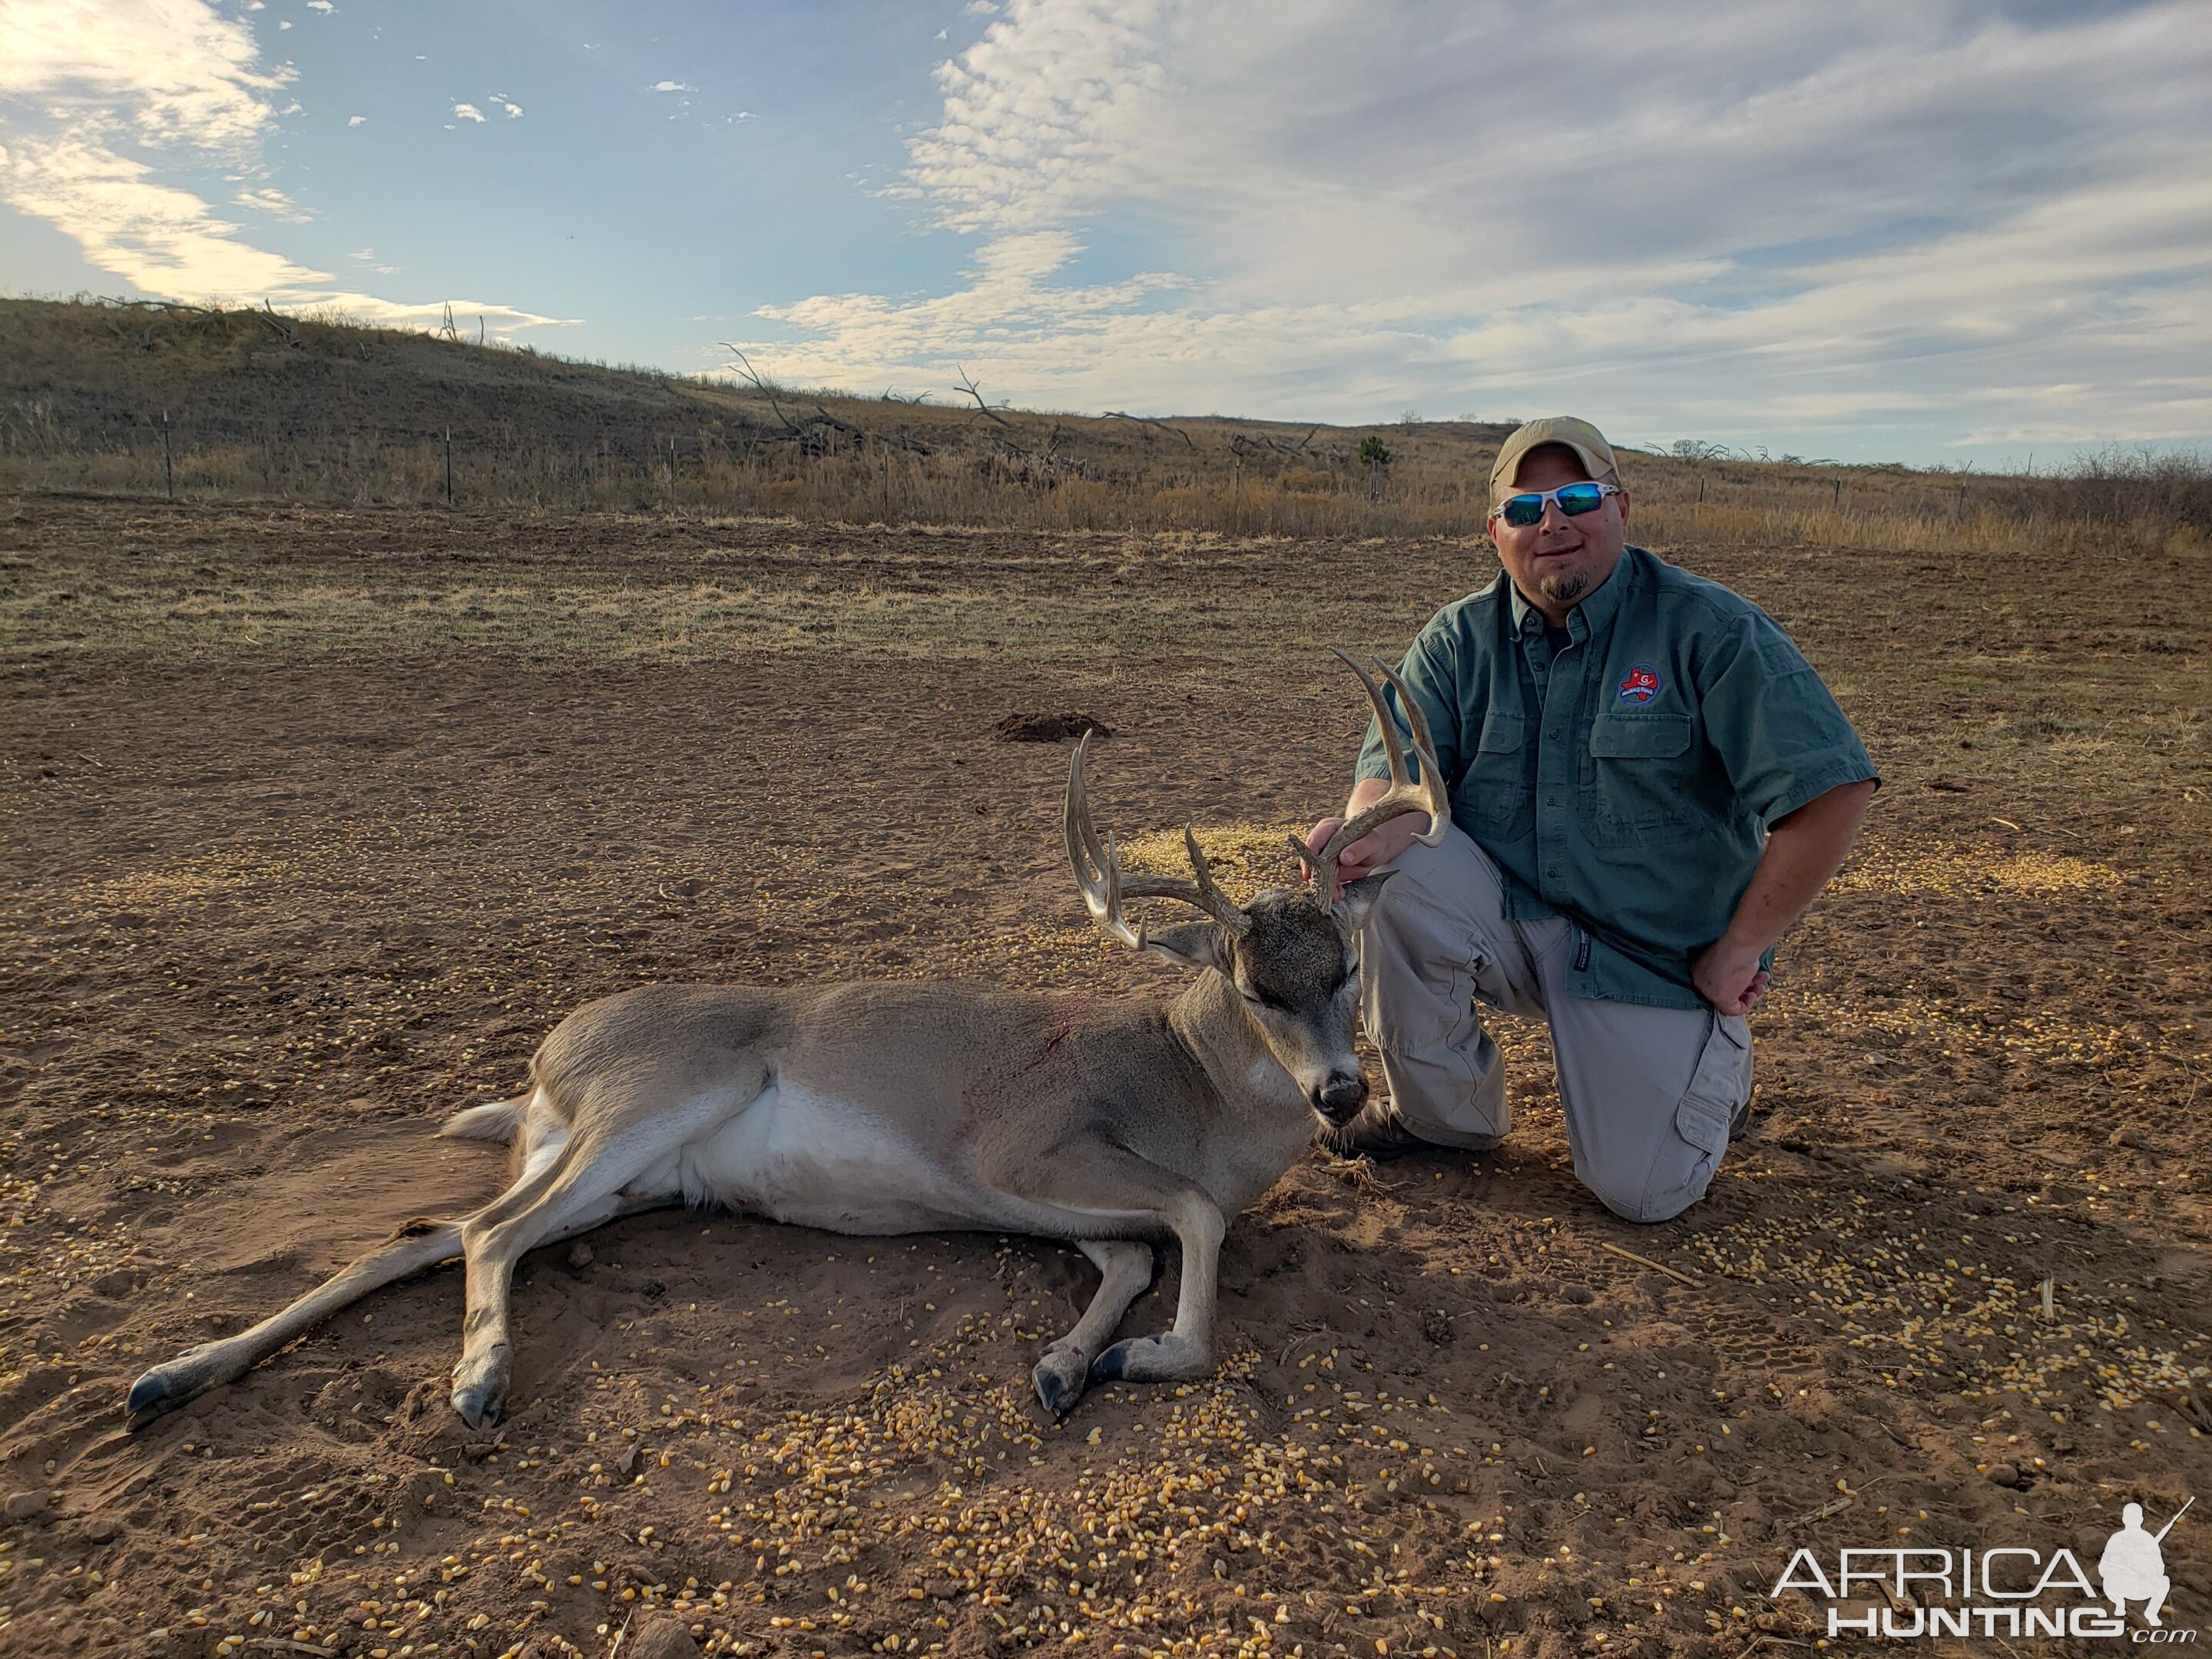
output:
[[[252,9],[252,7],[248,7]],[[135,290],[184,301],[343,310],[431,325],[447,301],[332,288],[332,274],[243,239],[197,192],[161,177],[181,155],[230,168],[234,206],[283,223],[312,215],[261,184],[259,144],[290,69],[263,69],[252,31],[206,0],[0,0],[0,197],[71,237]],[[358,122],[361,117],[354,117]],[[374,250],[354,259],[367,263]],[[394,274],[389,265],[376,265]],[[560,325],[511,305],[451,301],[502,334]]]

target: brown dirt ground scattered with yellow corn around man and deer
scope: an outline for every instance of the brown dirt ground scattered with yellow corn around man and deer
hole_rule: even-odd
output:
[[[1316,1152],[1237,1219],[1206,1385],[1053,1425],[1029,1367],[1095,1283],[1057,1243],[657,1214],[522,1267],[495,1436],[445,1402],[451,1272],[133,1436],[142,1369],[487,1199],[431,1128],[593,995],[1168,993],[1084,922],[1066,745],[993,728],[1110,726],[1124,834],[1305,823],[1363,721],[1323,646],[1396,655],[1491,566],[0,507],[0,1650],[1739,1659],[1851,1646],[1767,1597],[1798,1546],[2093,1566],[2124,1502],[2212,1493],[2205,557],[1661,551],[1887,779],[1681,1221],[1575,1186],[1509,1024],[1500,1152]],[[2208,1537],[2166,1540],[2174,1626]]]

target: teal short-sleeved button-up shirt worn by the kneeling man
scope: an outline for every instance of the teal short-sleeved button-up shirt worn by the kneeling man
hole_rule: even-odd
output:
[[[1509,916],[1575,925],[1584,998],[1705,1006],[1690,960],[1728,929],[1767,825],[1876,776],[1765,611],[1639,546],[1564,644],[1500,575],[1438,611],[1402,672],[1451,821],[1504,872]],[[1389,776],[1371,721],[1358,776]]]

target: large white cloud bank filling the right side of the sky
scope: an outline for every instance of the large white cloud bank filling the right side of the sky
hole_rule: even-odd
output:
[[[898,188],[967,279],[772,305],[757,347],[1077,407],[2208,434],[2201,22],[1009,0]],[[1091,226],[1172,272],[1084,274]]]

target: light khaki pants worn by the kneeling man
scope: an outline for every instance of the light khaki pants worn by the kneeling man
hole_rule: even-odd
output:
[[[1752,1097],[1752,1029],[1568,995],[1575,938],[1559,918],[1509,920],[1498,865],[1460,830],[1416,843],[1360,933],[1367,1035],[1411,1133],[1489,1148],[1513,1113],[1475,1002],[1546,1018],[1575,1175],[1628,1221],[1670,1221],[1705,1197]]]

